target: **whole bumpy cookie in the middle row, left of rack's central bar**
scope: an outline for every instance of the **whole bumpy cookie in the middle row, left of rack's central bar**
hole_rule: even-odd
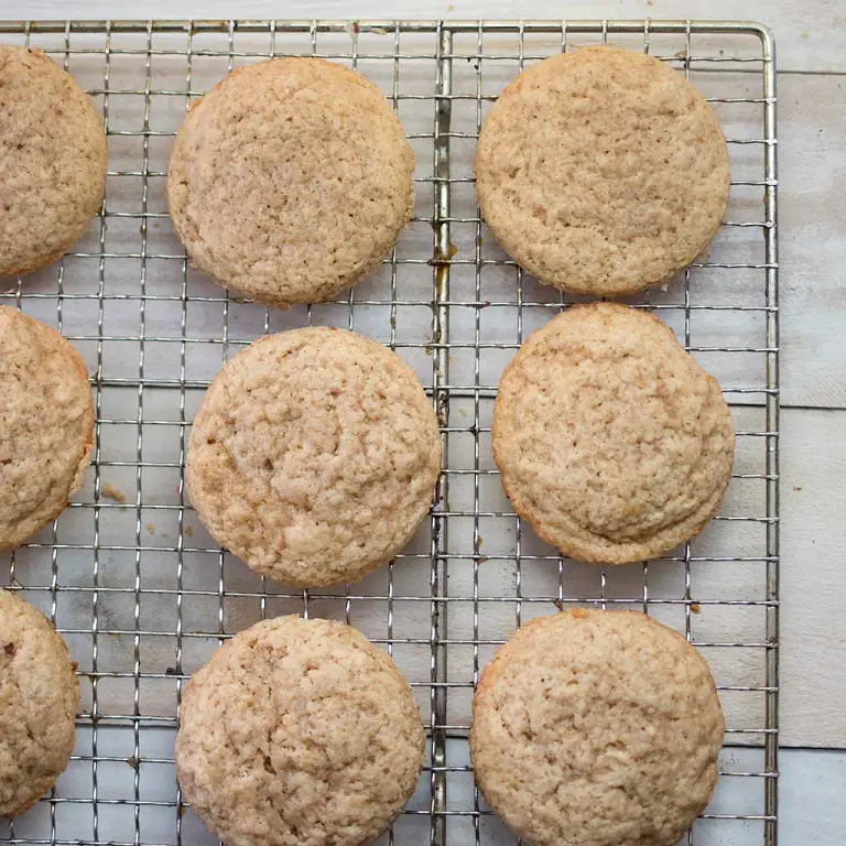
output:
[[[381,344],[293,329],[218,373],[194,421],[197,516],[254,571],[299,587],[387,564],[429,513],[441,468],[432,403]]]

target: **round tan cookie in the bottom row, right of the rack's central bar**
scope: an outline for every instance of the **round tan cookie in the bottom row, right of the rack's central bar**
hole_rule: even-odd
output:
[[[485,668],[470,753],[534,846],[675,846],[711,801],[725,724],[707,663],[634,611],[532,620]]]

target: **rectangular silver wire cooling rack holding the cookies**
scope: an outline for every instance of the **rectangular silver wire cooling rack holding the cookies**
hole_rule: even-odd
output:
[[[769,32],[728,22],[7,22],[102,110],[106,199],[75,251],[0,302],[57,327],[84,355],[97,409],[88,486],[0,585],[48,614],[79,662],[68,771],[35,810],[0,822],[20,844],[205,844],[184,813],[173,739],[185,680],[221,639],[279,614],[334,617],[409,676],[430,756],[386,843],[513,843],[474,788],[466,735],[479,670],[522,621],[556,607],[640,608],[708,659],[728,729],[696,844],[772,846],[777,832],[778,299],[776,67]],[[670,323],[723,384],[737,422],[724,512],[648,564],[574,564],[516,517],[490,457],[490,415],[520,343],[574,299],[536,284],[479,219],[473,156],[502,87],[561,50],[612,43],[686,74],[731,154],[727,220],[707,256],[630,299]],[[164,177],[192,99],[232,67],[319,55],[382,87],[414,148],[416,210],[380,272],[337,302],[291,312],[227,296],[172,234]],[[223,361],[259,335],[346,326],[395,348],[426,386],[446,457],[431,520],[395,563],[338,590],[289,592],[214,544],[184,494],[193,414]]]

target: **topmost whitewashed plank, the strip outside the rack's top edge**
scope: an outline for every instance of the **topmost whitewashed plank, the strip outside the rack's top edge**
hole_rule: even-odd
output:
[[[552,0],[4,0],[6,18],[489,18],[572,20],[615,18],[758,20],[776,32],[780,63],[791,70],[846,70],[846,8],[838,0],[620,0],[556,3]]]

